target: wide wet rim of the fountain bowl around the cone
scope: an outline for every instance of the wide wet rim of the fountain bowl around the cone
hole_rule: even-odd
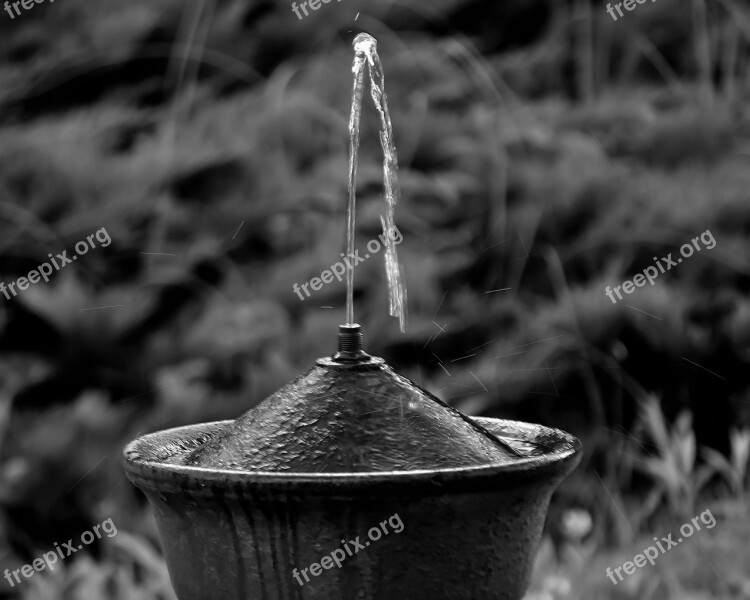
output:
[[[151,460],[153,455],[172,436],[211,433],[234,423],[234,420],[183,425],[145,434],[132,440],[123,450],[122,462],[128,478],[139,488],[157,492],[190,492],[193,495],[213,496],[217,488],[226,495],[243,492],[304,492],[330,495],[333,491],[359,494],[424,487],[445,493],[452,487],[461,490],[484,490],[488,482],[492,488],[539,479],[562,479],[578,464],[582,444],[575,436],[552,427],[490,417],[472,417],[494,433],[499,427],[515,428],[518,433],[543,433],[555,441],[553,448],[539,456],[522,458],[513,463],[487,463],[446,469],[414,469],[408,471],[352,471],[348,473],[311,473],[290,471],[248,471],[193,467]],[[190,439],[188,436],[187,439]],[[193,437],[193,439],[195,439]],[[532,440],[528,437],[526,441]],[[173,455],[172,455],[173,456]],[[437,487],[436,487],[437,486]]]

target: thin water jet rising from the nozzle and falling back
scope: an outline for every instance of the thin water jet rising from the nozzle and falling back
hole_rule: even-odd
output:
[[[362,97],[365,87],[365,68],[370,76],[370,96],[380,116],[380,145],[383,148],[383,186],[385,189],[385,216],[380,221],[385,240],[385,272],[388,280],[389,312],[398,317],[401,331],[406,321],[406,291],[401,283],[401,273],[396,253],[394,209],[398,204],[398,156],[393,141],[393,126],[385,95],[383,65],[377,52],[377,41],[366,33],[354,38],[354,85],[352,89],[352,111],[349,117],[349,204],[347,207],[346,245],[347,254],[354,254],[354,226],[356,209],[357,161],[359,158],[359,124],[362,116]],[[354,324],[354,269],[346,273],[346,322]]]

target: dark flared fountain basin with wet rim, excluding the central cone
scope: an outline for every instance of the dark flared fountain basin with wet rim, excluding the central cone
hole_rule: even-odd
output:
[[[512,464],[356,473],[211,470],[170,463],[233,421],[142,436],[124,450],[148,497],[180,600],[520,600],[550,497],[581,443],[548,427],[475,418],[525,454]],[[390,532],[292,576],[397,513]]]

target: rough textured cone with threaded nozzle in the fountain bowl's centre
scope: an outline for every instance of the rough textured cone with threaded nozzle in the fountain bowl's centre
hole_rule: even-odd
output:
[[[478,423],[362,350],[339,351],[266,398],[182,464],[285,472],[410,471],[505,464],[518,454]]]

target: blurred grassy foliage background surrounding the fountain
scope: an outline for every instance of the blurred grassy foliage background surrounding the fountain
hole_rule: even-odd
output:
[[[405,333],[381,257],[366,347],[461,410],[586,450],[529,600],[750,598],[750,9],[657,0],[59,0],[0,13],[0,571],[118,535],[0,598],[170,599],[119,465],[139,433],[233,418],[334,351],[351,40],[378,38],[402,202]],[[358,236],[380,233],[365,109]],[[696,253],[613,304],[607,285]],[[496,291],[504,290],[504,291]],[[705,510],[704,529],[614,586]]]

